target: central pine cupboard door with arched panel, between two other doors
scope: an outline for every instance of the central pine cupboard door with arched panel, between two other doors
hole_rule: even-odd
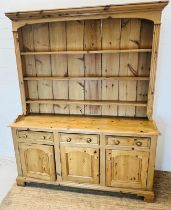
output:
[[[61,146],[62,178],[99,183],[99,149]]]

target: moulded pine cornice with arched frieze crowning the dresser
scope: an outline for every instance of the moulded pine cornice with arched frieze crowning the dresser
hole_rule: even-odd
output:
[[[14,21],[13,30],[26,23],[37,23],[51,21],[65,21],[65,20],[82,20],[82,19],[96,19],[99,17],[137,17],[147,18],[155,23],[160,23],[161,10],[168,4],[168,0],[153,1],[146,3],[132,3],[121,5],[103,5],[95,7],[82,8],[64,8],[57,10],[41,10],[41,11],[25,11],[25,12],[11,12],[6,13],[11,20]],[[151,13],[153,11],[153,13]],[[15,21],[17,20],[17,21]]]

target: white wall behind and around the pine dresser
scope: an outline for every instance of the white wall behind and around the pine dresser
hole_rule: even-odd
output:
[[[0,0],[0,156],[14,157],[7,126],[21,113],[11,23],[3,12],[135,2],[140,0]],[[171,171],[171,3],[163,12],[162,23],[154,103],[154,119],[162,134],[158,141],[156,169]]]

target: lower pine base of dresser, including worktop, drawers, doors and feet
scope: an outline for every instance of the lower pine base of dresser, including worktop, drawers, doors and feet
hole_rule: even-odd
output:
[[[125,127],[134,122],[135,128],[138,124],[140,128],[145,128],[146,122],[151,123],[154,129],[152,121],[88,117],[86,122],[86,118],[78,116],[75,119],[49,116],[48,119],[51,120],[55,117],[56,121],[53,123],[56,127],[53,128],[51,121],[46,121],[50,128],[43,127],[39,121],[38,128],[35,126],[35,116],[29,115],[19,117],[14,125],[23,122],[27,117],[33,117],[32,126],[27,124],[29,127],[14,128],[12,125],[18,168],[22,173],[17,178],[18,185],[23,186],[24,183],[33,181],[110,192],[122,191],[144,196],[148,202],[153,201],[152,183],[157,137],[157,133],[154,132],[157,130],[153,130],[152,133],[152,130],[147,132],[145,129],[146,132],[143,133],[144,130],[137,132],[131,127],[133,131],[131,133],[130,127]],[[40,119],[41,117],[37,115],[41,122],[45,122],[43,118]],[[78,122],[78,118],[83,121]],[[97,131],[99,130],[97,127],[96,130],[93,128],[94,123],[96,126],[99,125],[97,119],[102,120],[101,125],[105,125],[105,128],[111,123],[113,127],[110,127],[111,130],[103,131],[100,125],[100,131]],[[73,127],[74,122],[79,125],[79,129]],[[65,129],[61,127],[61,123]],[[118,126],[121,131],[118,130]],[[99,164],[102,168],[99,168]]]

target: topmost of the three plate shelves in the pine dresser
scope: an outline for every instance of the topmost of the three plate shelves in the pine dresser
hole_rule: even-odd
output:
[[[152,49],[117,49],[117,50],[70,50],[70,51],[47,51],[47,52],[21,52],[21,55],[55,55],[55,54],[101,54],[101,53],[137,53],[151,52]]]

